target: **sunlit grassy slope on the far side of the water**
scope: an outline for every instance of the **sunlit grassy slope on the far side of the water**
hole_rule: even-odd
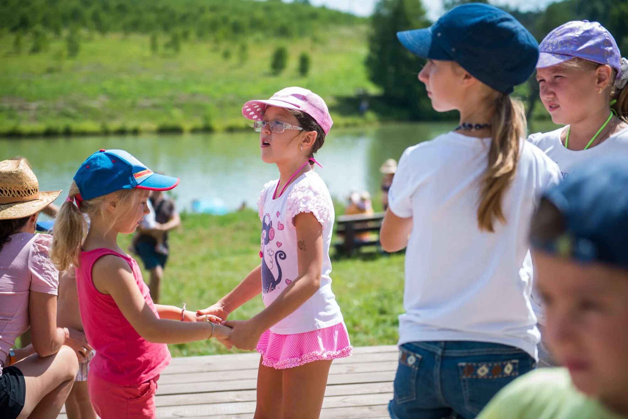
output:
[[[152,53],[145,34],[83,34],[80,53],[68,58],[63,38],[50,35],[46,51],[29,54],[31,36],[14,52],[14,35],[0,35],[0,132],[72,130],[151,131],[239,129],[246,125],[241,107],[251,98],[268,98],[277,90],[299,85],[322,95],[334,109],[338,125],[364,120],[357,105],[350,112],[342,98],[358,89],[379,93],[364,66],[367,27],[357,24],[294,40],[251,36],[240,43],[190,40],[180,53]],[[342,40],[342,41],[339,41]],[[271,73],[273,51],[286,46],[286,69]],[[298,56],[311,56],[310,72],[298,73]],[[344,115],[344,116],[342,116]],[[374,114],[367,114],[374,119]]]

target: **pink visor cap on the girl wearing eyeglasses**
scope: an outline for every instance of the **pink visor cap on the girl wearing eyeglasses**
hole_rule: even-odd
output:
[[[325,135],[329,134],[333,125],[332,117],[323,98],[306,88],[286,87],[268,100],[249,100],[242,107],[242,115],[250,120],[262,119],[268,106],[305,112],[318,122],[318,125],[325,131]]]

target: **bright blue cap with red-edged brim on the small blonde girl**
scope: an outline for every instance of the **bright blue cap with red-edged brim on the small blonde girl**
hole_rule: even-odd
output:
[[[124,150],[95,152],[78,167],[74,175],[80,198],[84,201],[120,189],[150,189],[168,191],[179,183],[178,178],[153,173]]]

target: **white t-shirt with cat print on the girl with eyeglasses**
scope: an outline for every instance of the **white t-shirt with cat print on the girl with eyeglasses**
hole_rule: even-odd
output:
[[[309,300],[273,327],[277,334],[310,332],[342,322],[340,307],[332,292],[332,243],[334,211],[332,197],[323,179],[313,171],[305,172],[281,196],[273,199],[279,179],[264,185],[257,200],[262,221],[262,299],[268,307],[298,277],[298,245],[294,218],[299,213],[312,213],[323,226],[323,266],[320,288]],[[279,191],[278,191],[279,193]]]

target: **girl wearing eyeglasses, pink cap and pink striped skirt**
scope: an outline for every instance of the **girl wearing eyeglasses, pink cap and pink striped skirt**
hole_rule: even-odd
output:
[[[257,201],[261,264],[198,314],[224,320],[261,293],[266,309],[224,323],[233,327],[230,344],[261,354],[255,418],[318,418],[332,359],[351,354],[329,277],[332,198],[313,170],[332,118],[322,98],[300,87],[251,100],[242,114],[259,132],[262,160],[279,169]]]

